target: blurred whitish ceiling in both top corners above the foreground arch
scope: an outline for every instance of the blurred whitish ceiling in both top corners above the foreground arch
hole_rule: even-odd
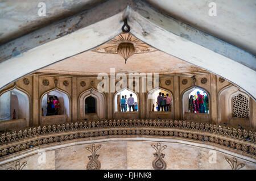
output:
[[[0,0],[0,44],[91,9],[106,0]],[[256,54],[255,0],[144,0],[156,9]],[[38,16],[38,3],[46,3],[46,16]],[[209,16],[210,2],[217,5],[217,16]]]

